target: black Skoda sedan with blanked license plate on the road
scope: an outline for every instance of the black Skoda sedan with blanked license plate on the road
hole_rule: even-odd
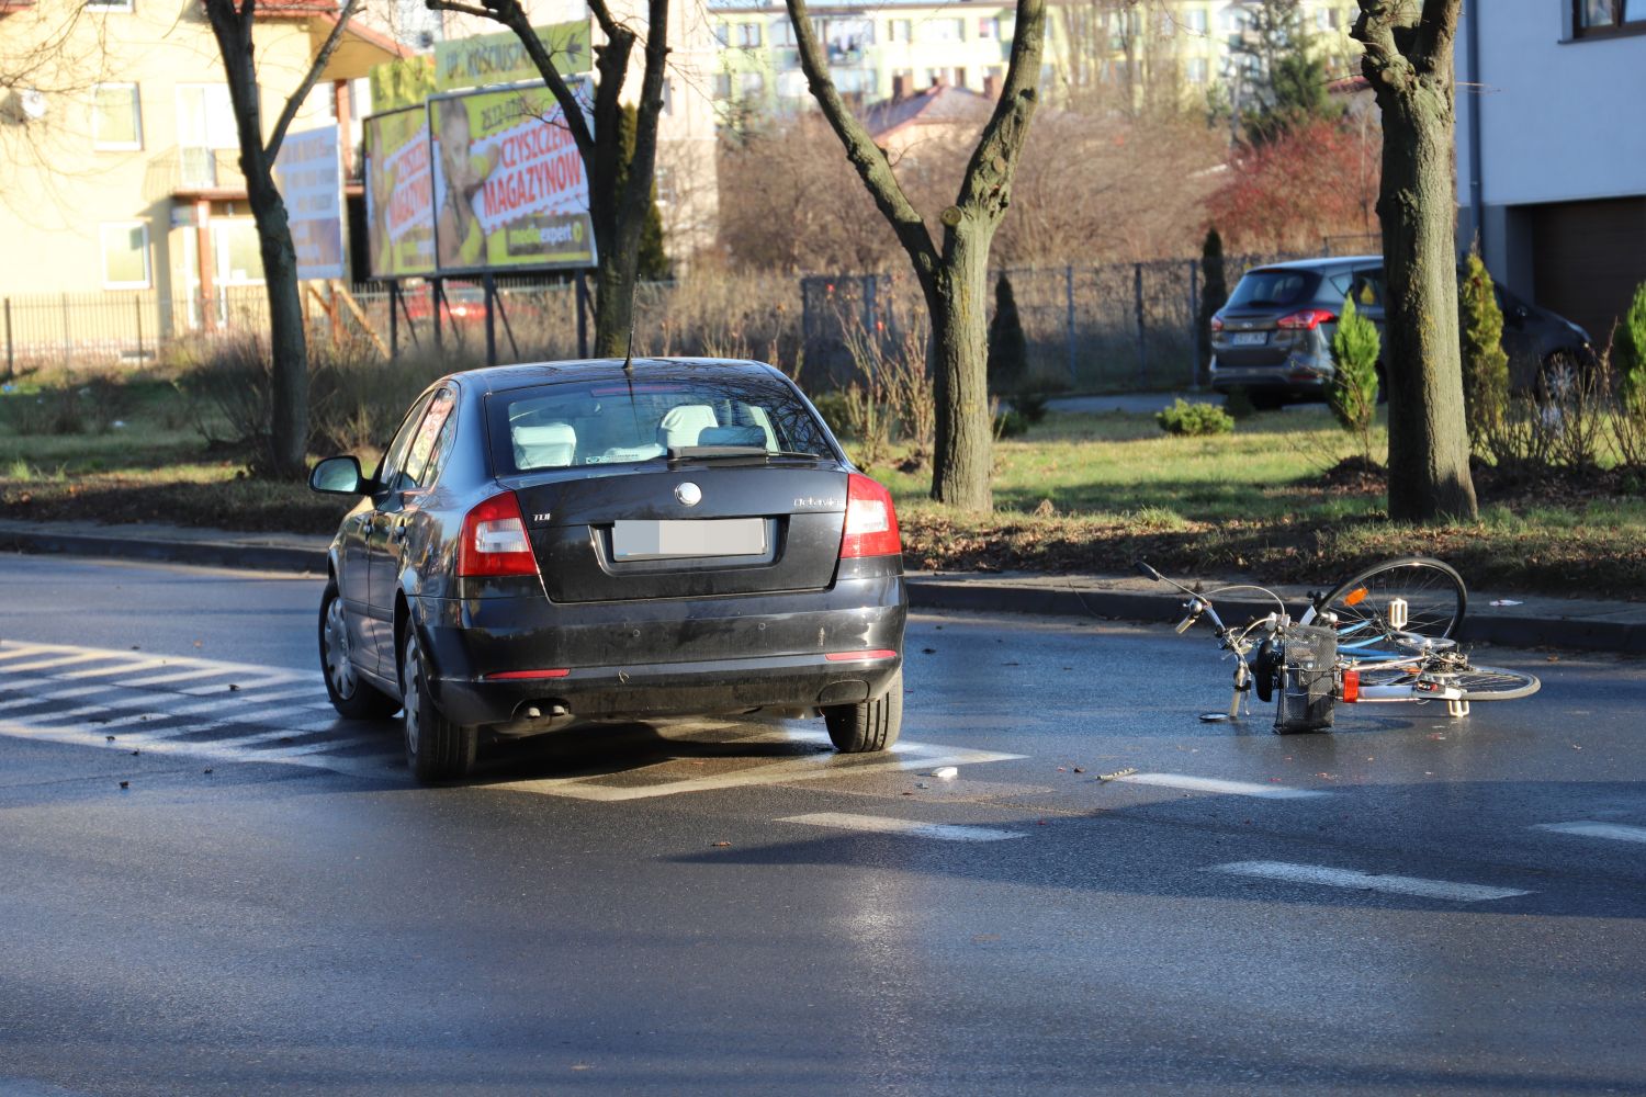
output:
[[[897,515],[757,362],[647,359],[453,373],[412,405],[331,544],[326,689],[403,709],[420,780],[482,734],[581,720],[821,712],[843,752],[902,724]]]

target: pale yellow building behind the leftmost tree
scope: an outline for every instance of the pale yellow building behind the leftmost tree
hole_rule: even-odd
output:
[[[265,137],[336,12],[258,3]],[[398,54],[351,23],[291,132],[349,133],[347,81]],[[260,296],[229,87],[199,0],[0,0],[0,298],[18,365],[97,349],[146,357],[156,336],[212,327],[237,296]]]

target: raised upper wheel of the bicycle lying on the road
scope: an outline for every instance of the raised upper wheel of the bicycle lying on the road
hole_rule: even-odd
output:
[[[1394,600],[1406,604],[1404,623],[1393,625]],[[1312,607],[1312,617],[1337,613],[1338,646],[1379,645],[1397,633],[1417,633],[1445,640],[1463,623],[1468,592],[1463,577],[1439,559],[1406,556],[1373,564],[1353,579],[1338,584]]]

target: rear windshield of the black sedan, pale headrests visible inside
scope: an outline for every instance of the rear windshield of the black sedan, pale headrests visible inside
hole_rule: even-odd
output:
[[[556,382],[487,401],[499,475],[635,464],[670,449],[835,456],[793,390],[759,373]]]

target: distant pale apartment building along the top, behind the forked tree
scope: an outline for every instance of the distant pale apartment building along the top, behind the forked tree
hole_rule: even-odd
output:
[[[1251,49],[1258,0],[1050,0],[1042,86],[1052,100],[1162,87],[1203,100],[1213,86],[1238,99],[1259,59]],[[1016,31],[1012,3],[894,0],[810,8],[843,95],[871,105],[937,84],[989,94],[1004,81]],[[1337,67],[1356,46],[1350,0],[1304,0],[1312,48]],[[793,26],[780,0],[709,0],[719,66],[714,107],[723,125],[808,107]]]

